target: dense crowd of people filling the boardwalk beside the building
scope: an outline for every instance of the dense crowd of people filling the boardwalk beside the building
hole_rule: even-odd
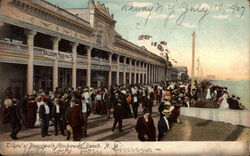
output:
[[[215,98],[220,101],[222,93],[207,90],[206,98]],[[136,84],[111,86],[110,88],[57,88],[55,92],[45,93],[43,90],[26,95],[23,100],[6,96],[4,99],[4,121],[11,121],[12,131],[10,137],[18,139],[17,134],[22,125],[26,128],[41,128],[41,137],[48,136],[50,125],[54,126],[55,135],[60,130],[61,135],[69,140],[73,134],[73,141],[87,137],[88,117],[98,114],[110,119],[113,112],[113,127],[115,131],[118,123],[119,132],[122,133],[122,121],[127,118],[137,120],[135,130],[141,141],[156,141],[156,128],[151,116],[152,107],[157,106],[160,115],[158,128],[158,141],[171,129],[174,123],[181,124],[178,119],[180,107],[195,105],[200,95],[206,91],[206,86],[185,82],[164,81],[157,84]],[[209,97],[210,95],[210,97]],[[138,108],[142,107],[143,115],[138,117]],[[22,114],[20,109],[22,108]],[[24,120],[22,119],[24,116]],[[11,120],[10,120],[11,119]],[[24,121],[24,122],[23,122]]]

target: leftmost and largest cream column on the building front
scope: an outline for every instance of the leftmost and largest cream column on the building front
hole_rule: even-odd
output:
[[[27,30],[25,34],[27,35],[27,45],[29,46],[29,58],[27,65],[27,94],[31,95],[33,91],[33,76],[34,76],[34,66],[33,66],[33,47],[34,47],[34,37],[36,31]]]

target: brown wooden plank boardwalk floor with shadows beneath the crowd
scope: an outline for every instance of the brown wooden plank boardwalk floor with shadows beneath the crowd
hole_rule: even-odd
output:
[[[154,124],[157,128],[157,122],[159,120],[159,113],[157,110],[158,106],[153,107],[153,118]],[[142,115],[142,108],[139,107],[139,115]],[[2,115],[2,112],[1,112]],[[119,141],[138,141],[137,133],[135,131],[137,119],[129,118],[123,119],[123,132],[118,132],[118,125],[114,132],[111,131],[113,126],[113,117],[111,115],[110,119],[107,119],[106,116],[93,115],[89,116],[88,120],[88,137],[83,138],[85,141],[110,141],[110,140],[119,140]],[[11,141],[10,138],[10,126],[9,124],[2,125],[0,130],[0,140],[1,141]],[[19,141],[66,141],[66,136],[59,135],[55,136],[54,126],[49,127],[49,134],[51,136],[42,138],[40,135],[40,128],[26,129],[24,126],[19,132],[18,137]],[[72,140],[72,135],[71,139]]]

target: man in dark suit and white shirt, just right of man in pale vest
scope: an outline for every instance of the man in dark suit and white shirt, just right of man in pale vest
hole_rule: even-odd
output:
[[[63,129],[63,106],[59,104],[59,99],[54,100],[52,107],[52,120],[54,121],[55,135],[58,135],[58,125],[61,130],[61,134],[65,136]]]

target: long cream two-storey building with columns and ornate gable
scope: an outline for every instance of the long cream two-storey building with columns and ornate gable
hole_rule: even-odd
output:
[[[166,60],[125,40],[99,2],[62,9],[45,0],[0,0],[0,96],[57,87],[154,83]]]

